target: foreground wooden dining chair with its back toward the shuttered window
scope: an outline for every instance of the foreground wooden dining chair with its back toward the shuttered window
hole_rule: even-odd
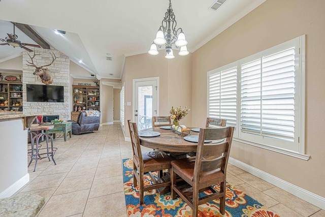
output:
[[[192,159],[172,161],[171,194],[172,198],[179,195],[193,210],[192,216],[198,216],[198,206],[220,198],[220,212],[225,209],[226,168],[234,127],[200,129],[197,156]],[[219,143],[204,143],[205,140],[224,139]],[[177,185],[176,174],[186,181],[193,189]],[[220,183],[220,191],[212,187]],[[183,192],[183,190],[186,190]],[[211,190],[212,194],[199,198],[199,193]],[[192,199],[192,200],[191,200]]]

